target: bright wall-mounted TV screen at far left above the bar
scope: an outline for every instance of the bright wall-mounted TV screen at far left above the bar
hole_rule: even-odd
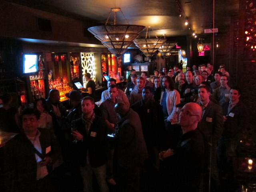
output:
[[[38,55],[23,54],[23,73],[38,72]]]

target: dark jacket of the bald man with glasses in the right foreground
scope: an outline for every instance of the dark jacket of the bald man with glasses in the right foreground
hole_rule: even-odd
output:
[[[174,155],[164,159],[167,164],[167,190],[199,192],[204,168],[204,138],[200,131],[183,134]]]

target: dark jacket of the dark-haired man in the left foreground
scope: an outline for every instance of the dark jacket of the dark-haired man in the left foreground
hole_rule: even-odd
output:
[[[50,156],[52,163],[56,161],[56,140],[50,130],[38,128],[43,156]],[[46,148],[51,147],[46,154]],[[49,149],[49,148],[48,148]],[[37,163],[34,146],[24,132],[16,135],[4,147],[4,191],[6,192],[36,192]],[[48,169],[48,172],[50,170]]]

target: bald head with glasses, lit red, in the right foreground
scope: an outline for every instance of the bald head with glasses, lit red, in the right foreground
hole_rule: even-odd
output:
[[[201,120],[202,108],[196,103],[188,103],[182,108],[178,124],[182,127],[183,134],[195,130]]]

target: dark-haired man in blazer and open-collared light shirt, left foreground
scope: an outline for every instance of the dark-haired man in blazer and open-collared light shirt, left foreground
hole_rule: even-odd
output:
[[[59,154],[56,140],[50,130],[38,128],[38,110],[25,109],[21,118],[23,132],[4,147],[4,191],[53,191],[49,173]]]

